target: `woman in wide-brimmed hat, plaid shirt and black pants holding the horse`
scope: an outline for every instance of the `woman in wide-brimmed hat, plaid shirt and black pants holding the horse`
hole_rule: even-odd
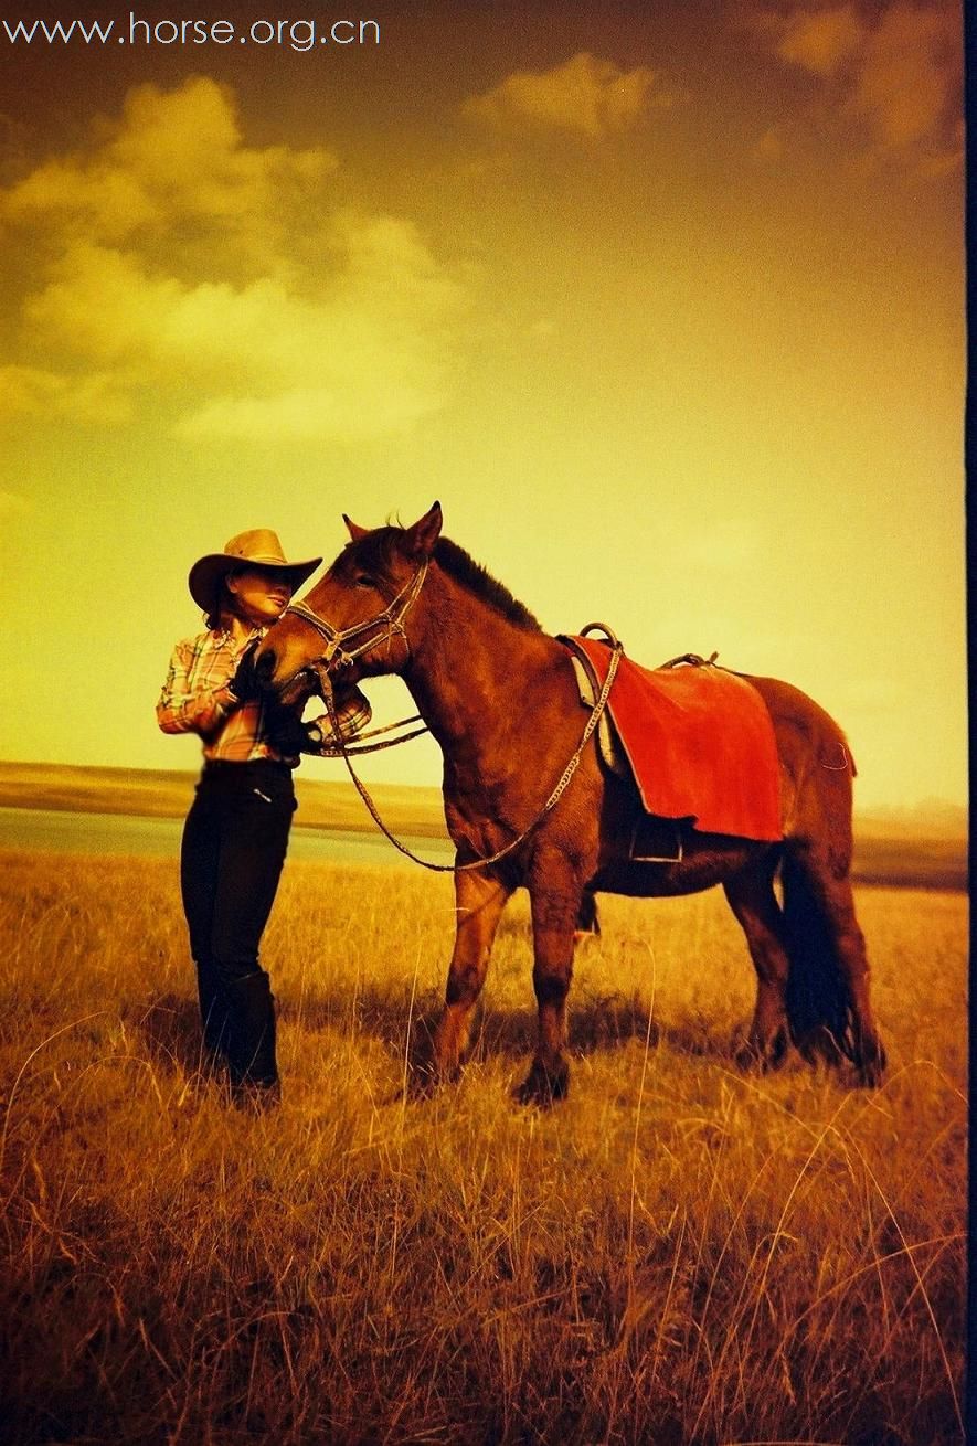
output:
[[[259,1103],[277,1098],[275,1001],[259,944],[296,807],[292,769],[299,752],[319,752],[332,735],[328,717],[301,723],[260,693],[253,654],[321,561],[286,561],[276,534],[256,528],[194,562],[189,591],[207,632],[176,643],[156,704],[163,733],[204,740],[181,852],[204,1044],[225,1061],[236,1092]],[[358,690],[341,700],[344,737],[369,719]]]

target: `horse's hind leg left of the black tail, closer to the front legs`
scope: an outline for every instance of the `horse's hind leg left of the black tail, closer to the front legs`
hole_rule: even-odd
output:
[[[746,934],[756,969],[756,1008],[746,1044],[737,1053],[741,1066],[779,1064],[789,1043],[786,988],[789,960],[783,914],[773,892],[776,853],[750,865],[724,885],[730,908]]]

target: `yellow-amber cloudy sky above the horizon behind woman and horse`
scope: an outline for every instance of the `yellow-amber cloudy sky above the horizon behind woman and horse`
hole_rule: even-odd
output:
[[[194,768],[194,560],[438,499],[548,630],[964,803],[958,7],[210,3],[0,19],[0,759]]]

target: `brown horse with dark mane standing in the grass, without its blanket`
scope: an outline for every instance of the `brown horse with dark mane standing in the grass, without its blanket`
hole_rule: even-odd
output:
[[[487,859],[538,818],[581,740],[567,648],[512,594],[441,536],[441,508],[410,528],[366,531],[262,643],[257,669],[286,701],[309,665],[343,683],[399,674],[444,753],[444,805],[455,866]],[[757,996],[744,1051],[778,1063],[848,1058],[874,1084],[885,1051],[869,1004],[869,963],[851,882],[851,774],[844,735],[786,683],[749,680],[766,701],[780,761],[782,843],[688,829],[676,862],[629,856],[634,785],[600,761],[595,740],[552,811],[494,863],[455,872],[457,936],[434,1070],[457,1073],[503,907],[529,891],[539,1037],[525,1100],[567,1092],[567,993],[574,928],[588,891],[689,894],[721,884],[746,934]],[[775,894],[780,875],[783,905]]]

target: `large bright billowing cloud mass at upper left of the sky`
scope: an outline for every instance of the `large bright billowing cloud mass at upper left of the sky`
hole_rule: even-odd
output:
[[[0,192],[42,254],[0,414],[116,424],[169,389],[182,435],[345,438],[441,406],[464,289],[410,221],[337,210],[328,169],[246,147],[211,81],[130,94]]]

